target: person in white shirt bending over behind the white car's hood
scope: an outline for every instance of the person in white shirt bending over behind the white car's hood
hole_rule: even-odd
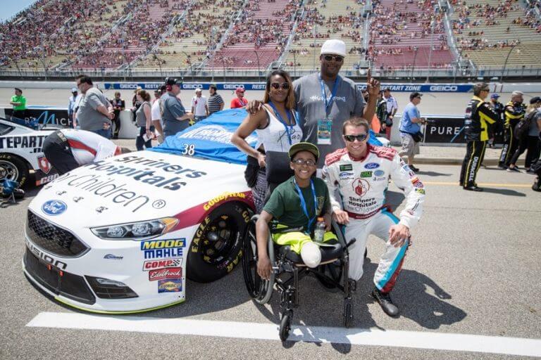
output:
[[[104,136],[86,130],[59,129],[43,141],[45,157],[61,175],[81,165],[129,152]]]

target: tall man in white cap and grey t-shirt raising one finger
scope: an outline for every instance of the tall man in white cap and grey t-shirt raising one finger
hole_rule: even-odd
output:
[[[346,54],[344,41],[325,41],[319,56],[320,72],[293,82],[299,122],[303,127],[303,141],[318,145],[321,152],[318,160],[320,168],[323,167],[325,155],[342,147],[344,121],[354,116],[372,119],[375,113],[380,83],[372,79],[368,70],[366,104],[356,84],[338,75]],[[254,113],[260,106],[259,101],[252,101],[248,109]]]

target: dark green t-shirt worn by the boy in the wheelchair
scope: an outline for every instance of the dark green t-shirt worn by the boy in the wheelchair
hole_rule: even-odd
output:
[[[272,214],[273,218],[278,219],[280,224],[293,228],[302,227],[303,231],[306,231],[308,219],[302,210],[301,199],[299,198],[299,193],[297,193],[293,180],[294,176],[275,188],[263,210]],[[313,188],[316,190],[316,199],[318,202],[316,214],[317,217],[320,217],[330,211],[329,190],[325,182],[318,178],[313,179]],[[308,214],[312,218],[315,216],[315,209],[313,206],[311,186],[301,188],[301,193],[304,201],[306,201]],[[314,219],[312,228],[309,231],[310,233],[313,231],[314,226],[316,226],[316,222],[317,219]]]

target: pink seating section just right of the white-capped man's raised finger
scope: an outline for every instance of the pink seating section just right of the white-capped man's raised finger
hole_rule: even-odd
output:
[[[447,46],[443,21],[430,0],[381,0],[371,20],[368,58],[375,67],[386,70],[446,68],[454,58]]]

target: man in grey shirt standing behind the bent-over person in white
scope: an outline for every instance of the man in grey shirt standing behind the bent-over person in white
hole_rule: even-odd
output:
[[[113,106],[104,94],[93,86],[90,77],[79,75],[75,82],[82,94],[76,115],[81,129],[111,139],[111,119],[115,116]]]

